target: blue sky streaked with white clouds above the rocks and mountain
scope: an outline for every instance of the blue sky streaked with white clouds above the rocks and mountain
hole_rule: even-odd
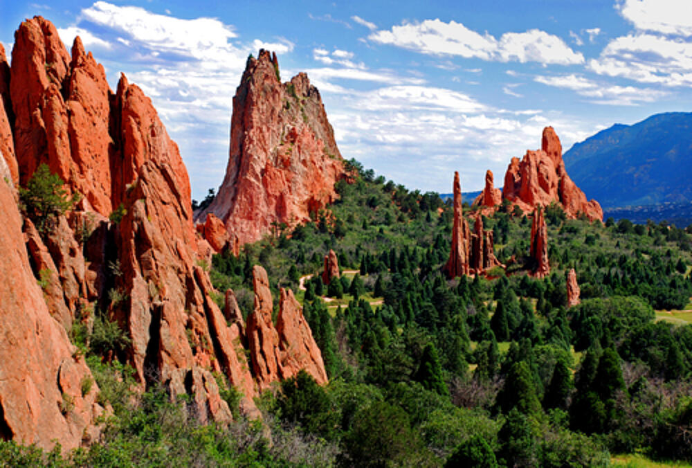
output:
[[[480,190],[552,125],[567,150],[614,123],[692,111],[686,0],[0,0],[11,50],[26,17],[75,34],[154,101],[188,166],[193,197],[221,183],[233,94],[249,53],[307,71],[343,156],[421,191]],[[587,194],[589,195],[589,194]]]

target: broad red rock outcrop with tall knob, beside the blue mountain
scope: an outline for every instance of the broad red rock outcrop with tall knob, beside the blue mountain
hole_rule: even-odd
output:
[[[603,221],[603,210],[595,200],[587,201],[567,175],[562,145],[552,127],[543,129],[541,149],[527,151],[524,159],[512,158],[504,175],[502,197],[517,204],[525,213],[537,206],[561,204],[567,217],[580,213],[590,220]]]

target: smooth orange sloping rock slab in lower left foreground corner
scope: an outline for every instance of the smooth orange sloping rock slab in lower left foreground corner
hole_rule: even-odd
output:
[[[93,376],[76,357],[64,327],[48,312],[31,270],[21,216],[7,183],[0,181],[0,438],[51,449],[73,449],[96,435],[102,408],[98,386],[82,395]]]

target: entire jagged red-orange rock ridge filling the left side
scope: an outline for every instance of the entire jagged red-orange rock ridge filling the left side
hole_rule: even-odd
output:
[[[289,294],[276,325],[282,372],[266,377],[246,359],[253,328],[244,330],[232,291],[226,316],[211,298],[188,174],[151,100],[125,76],[113,93],[79,37],[70,56],[42,17],[21,24],[12,57],[9,74],[0,57],[0,208],[8,226],[0,269],[13,278],[1,286],[1,436],[71,448],[98,433],[98,388],[81,394],[91,374],[66,333],[95,314],[116,321],[131,340],[104,358],[130,363],[140,390],[161,383],[171,395],[189,395],[202,421],[232,417],[212,372],[241,390],[241,409],[251,416],[258,415],[253,397],[275,379],[304,367],[325,383],[320,350]],[[82,194],[77,209],[46,232],[21,218],[15,191],[42,163]],[[106,217],[113,212],[119,215]],[[271,314],[267,325],[274,326]]]

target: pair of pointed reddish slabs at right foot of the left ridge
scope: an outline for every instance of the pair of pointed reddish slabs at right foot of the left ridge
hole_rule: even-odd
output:
[[[260,391],[270,388],[272,382],[297,375],[301,369],[312,375],[318,384],[326,384],[322,352],[293,292],[281,289],[280,309],[274,327],[269,282],[266,271],[260,266],[253,268],[253,286],[255,310],[248,316],[246,334]]]

